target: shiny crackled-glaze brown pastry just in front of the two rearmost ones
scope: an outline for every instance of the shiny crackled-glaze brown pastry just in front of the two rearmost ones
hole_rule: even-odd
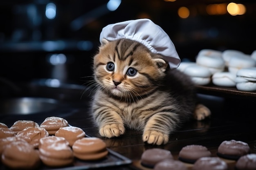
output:
[[[28,127],[17,133],[16,137],[24,139],[34,148],[38,148],[39,140],[43,137],[49,136],[45,128]]]

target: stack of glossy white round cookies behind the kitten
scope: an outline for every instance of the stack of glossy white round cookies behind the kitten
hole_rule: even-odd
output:
[[[256,50],[248,55],[238,50],[202,49],[195,62],[181,62],[178,70],[197,85],[236,87],[256,91]]]

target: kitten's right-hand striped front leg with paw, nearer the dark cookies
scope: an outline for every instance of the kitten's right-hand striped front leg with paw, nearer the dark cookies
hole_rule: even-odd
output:
[[[169,140],[169,134],[175,129],[174,119],[178,118],[175,115],[170,117],[170,113],[157,113],[150,117],[144,129],[143,141],[148,144],[166,144]]]

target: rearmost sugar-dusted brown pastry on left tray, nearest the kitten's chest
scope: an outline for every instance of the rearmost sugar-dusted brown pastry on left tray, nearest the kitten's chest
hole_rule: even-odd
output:
[[[47,117],[42,124],[40,124],[40,128],[45,128],[49,135],[54,135],[59,128],[68,126],[67,120],[61,117]]]

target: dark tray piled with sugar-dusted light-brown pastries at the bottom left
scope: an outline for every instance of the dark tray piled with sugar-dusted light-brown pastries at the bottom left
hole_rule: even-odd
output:
[[[47,117],[40,125],[20,120],[8,128],[1,123],[0,154],[0,170],[81,170],[132,163],[61,117]]]

